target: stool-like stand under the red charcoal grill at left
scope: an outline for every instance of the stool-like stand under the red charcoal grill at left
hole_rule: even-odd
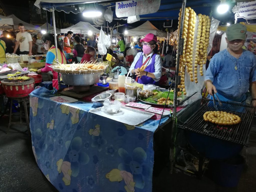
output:
[[[30,133],[30,128],[29,128],[28,110],[27,110],[27,103],[26,103],[26,101],[28,101],[29,98],[28,97],[24,97],[24,98],[17,98],[17,99],[15,99],[20,104],[20,122],[12,122],[13,99],[12,98],[8,98],[8,100],[10,100],[10,116],[9,116],[9,124],[8,124],[7,133],[9,132],[9,128],[10,128],[11,124],[25,124],[25,125],[27,125],[27,131],[28,131],[28,134],[30,135],[31,133]],[[22,110],[21,110],[22,104],[24,106],[26,123],[22,122]]]

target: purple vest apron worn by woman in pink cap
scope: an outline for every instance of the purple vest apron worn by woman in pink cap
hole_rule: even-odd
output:
[[[143,52],[141,53],[141,55],[142,55],[142,54],[143,54]],[[156,54],[154,54],[154,55],[152,56],[152,58],[150,58],[152,62],[151,62],[149,65],[147,65],[145,71],[150,72],[150,73],[154,73],[154,72],[155,72],[155,57],[156,57]],[[139,60],[138,60],[137,63],[135,64],[134,69],[141,68],[141,66],[142,66],[142,64],[143,64],[142,60],[143,60],[143,57],[140,56]],[[135,76],[135,78],[136,78],[136,76]],[[154,81],[153,78],[147,77],[147,76],[145,76],[145,75],[143,75],[143,76],[141,77],[141,79],[138,79],[138,83],[141,83],[141,84],[154,84],[154,85],[158,85],[158,81]]]

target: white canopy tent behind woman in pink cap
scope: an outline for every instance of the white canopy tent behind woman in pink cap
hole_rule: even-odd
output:
[[[157,29],[150,21],[146,21],[142,25],[134,28],[127,30],[126,36],[145,36],[148,33],[153,33],[154,35],[158,37],[166,37],[167,33],[164,31],[161,31]]]

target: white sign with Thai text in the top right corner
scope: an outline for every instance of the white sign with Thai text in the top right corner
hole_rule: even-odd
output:
[[[256,1],[237,3],[238,18],[255,19],[256,18]]]

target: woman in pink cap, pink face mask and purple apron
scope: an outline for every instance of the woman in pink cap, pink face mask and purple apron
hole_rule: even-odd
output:
[[[135,80],[141,84],[158,84],[162,76],[162,60],[157,55],[158,46],[157,38],[154,34],[149,33],[145,38],[141,39],[143,52],[139,52],[130,67],[131,75],[135,74]],[[146,66],[144,71],[138,68]]]

